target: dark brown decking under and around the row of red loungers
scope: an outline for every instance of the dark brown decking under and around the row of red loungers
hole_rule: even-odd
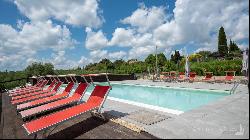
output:
[[[67,108],[67,107],[66,107]],[[55,111],[55,110],[54,110]],[[58,110],[56,110],[58,111]],[[51,112],[50,112],[51,113]],[[120,114],[125,116],[127,114],[112,111],[113,114]],[[48,114],[46,114],[48,115]],[[10,103],[10,97],[7,94],[2,94],[2,116],[1,122],[2,139],[32,139],[33,135],[27,135],[25,129],[22,127],[23,122],[20,115],[16,114],[16,108]],[[38,117],[42,117],[38,116]],[[156,137],[146,133],[134,132],[126,127],[118,125],[111,121],[103,121],[97,117],[91,116],[91,113],[84,113],[73,119],[67,120],[52,132],[53,128],[48,129],[44,136],[48,139],[61,138],[85,138],[85,139],[155,139]],[[1,136],[1,134],[0,134]],[[39,135],[38,135],[39,137]]]

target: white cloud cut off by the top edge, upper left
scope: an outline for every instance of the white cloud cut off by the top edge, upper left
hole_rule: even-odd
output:
[[[15,0],[14,3],[32,21],[54,18],[67,24],[94,28],[104,21],[96,0]]]

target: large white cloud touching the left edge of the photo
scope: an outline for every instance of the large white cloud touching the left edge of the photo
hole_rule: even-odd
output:
[[[62,52],[77,43],[65,25],[54,25],[50,20],[22,23],[19,28],[0,24],[0,69],[23,69],[37,60],[35,55],[42,50]]]

